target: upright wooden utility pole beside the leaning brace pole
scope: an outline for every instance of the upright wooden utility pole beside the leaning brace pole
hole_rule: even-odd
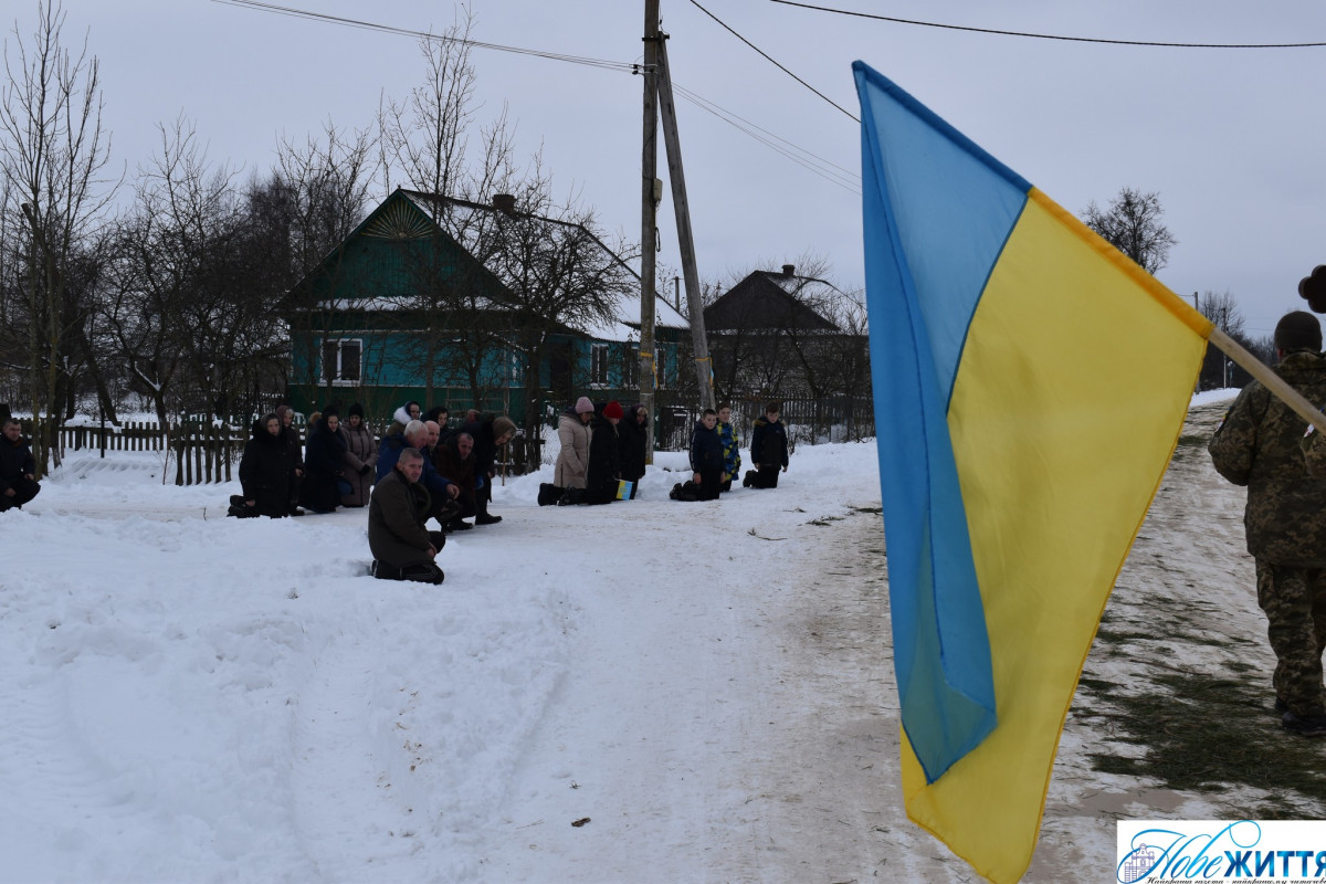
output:
[[[644,0],[644,148],[640,160],[640,402],[648,424],[644,463],[654,463],[654,274],[658,244],[659,0]],[[633,417],[634,420],[634,417]]]

